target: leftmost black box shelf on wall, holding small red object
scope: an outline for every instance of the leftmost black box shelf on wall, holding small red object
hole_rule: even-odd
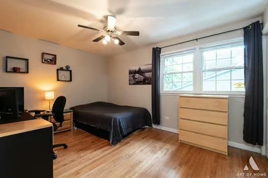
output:
[[[6,72],[29,73],[29,59],[6,56]]]

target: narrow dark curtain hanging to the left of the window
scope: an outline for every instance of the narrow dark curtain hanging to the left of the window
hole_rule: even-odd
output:
[[[160,124],[160,53],[161,48],[153,48],[152,54],[152,118]]]

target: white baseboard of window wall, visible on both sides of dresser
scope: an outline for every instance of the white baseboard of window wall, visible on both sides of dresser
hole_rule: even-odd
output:
[[[177,133],[177,134],[179,133],[178,129],[172,129],[172,128],[158,126],[158,125],[153,125],[153,128],[165,130],[165,131],[173,132],[173,133]],[[261,148],[256,147],[256,146],[246,145],[246,144],[242,144],[242,143],[236,143],[236,142],[232,142],[232,141],[228,141],[228,145],[233,146],[233,147],[237,147],[238,149],[242,149],[242,150],[248,150],[251,152],[261,153]]]

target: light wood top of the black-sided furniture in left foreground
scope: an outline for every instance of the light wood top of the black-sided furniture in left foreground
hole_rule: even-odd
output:
[[[29,120],[29,121],[2,124],[0,125],[0,137],[43,129],[52,126],[53,126],[52,123],[45,121],[42,118],[37,118],[35,120]]]

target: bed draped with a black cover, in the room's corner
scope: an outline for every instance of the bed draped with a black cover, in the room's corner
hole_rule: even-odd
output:
[[[142,107],[120,106],[106,102],[93,102],[71,107],[76,127],[93,131],[95,135],[109,134],[111,145],[145,127],[152,127],[150,112]],[[92,133],[92,132],[90,132]]]

